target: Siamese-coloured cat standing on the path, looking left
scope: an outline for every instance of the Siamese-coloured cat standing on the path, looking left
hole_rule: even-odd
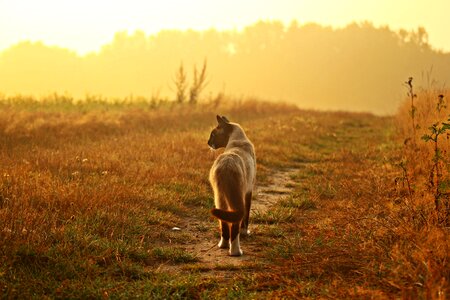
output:
[[[242,127],[217,115],[218,125],[211,131],[208,145],[225,147],[214,161],[209,181],[214,191],[213,216],[219,219],[219,248],[229,248],[231,256],[243,254],[239,235],[247,235],[252,192],[256,180],[255,149]]]

